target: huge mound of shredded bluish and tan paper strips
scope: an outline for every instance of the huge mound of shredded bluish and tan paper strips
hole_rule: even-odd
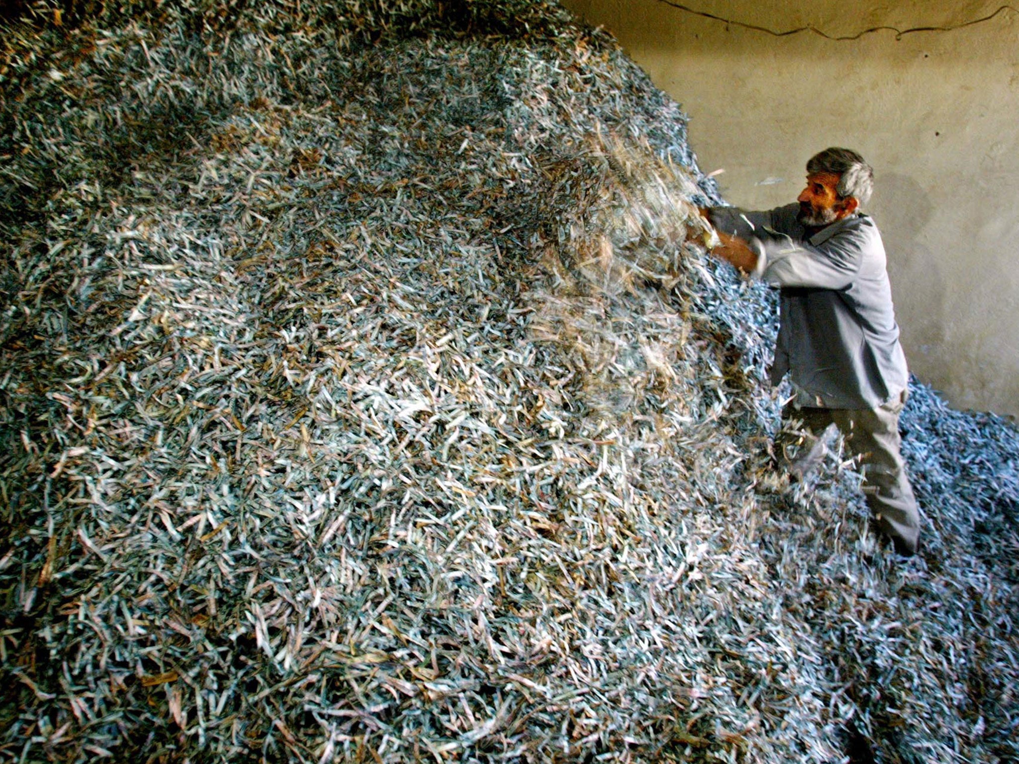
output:
[[[685,116],[524,0],[0,25],[0,760],[1019,759],[1019,437],[770,465]],[[690,242],[687,242],[687,239]]]

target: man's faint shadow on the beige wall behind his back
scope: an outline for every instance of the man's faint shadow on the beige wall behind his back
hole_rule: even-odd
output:
[[[888,250],[889,278],[910,369],[925,382],[947,381],[937,359],[946,340],[945,279],[938,257],[927,248],[923,232],[934,206],[909,175],[875,178],[874,217]]]

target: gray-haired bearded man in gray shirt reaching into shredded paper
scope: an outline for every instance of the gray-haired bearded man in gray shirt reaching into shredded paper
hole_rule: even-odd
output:
[[[906,358],[881,237],[859,210],[870,198],[872,178],[856,152],[825,149],[807,162],[798,205],[701,212],[721,240],[712,254],[782,290],[771,382],[789,373],[795,397],[783,418],[801,421],[806,430],[799,458],[789,462],[792,477],[802,479],[816,466],[822,431],[838,426],[863,463],[877,529],[896,551],[911,555],[920,517],[899,449]]]

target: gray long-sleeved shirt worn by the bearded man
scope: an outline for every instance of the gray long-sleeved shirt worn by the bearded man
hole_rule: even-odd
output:
[[[788,372],[800,405],[876,408],[908,382],[880,233],[853,213],[808,237],[798,211],[711,209],[715,228],[749,241],[756,274],[781,287],[771,382]]]

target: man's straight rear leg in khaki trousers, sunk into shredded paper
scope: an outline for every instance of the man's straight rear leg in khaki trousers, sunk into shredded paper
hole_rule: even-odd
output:
[[[832,411],[846,436],[846,445],[861,457],[863,492],[877,528],[901,554],[915,554],[920,538],[920,512],[906,476],[900,451],[899,413],[906,393],[879,408]]]

